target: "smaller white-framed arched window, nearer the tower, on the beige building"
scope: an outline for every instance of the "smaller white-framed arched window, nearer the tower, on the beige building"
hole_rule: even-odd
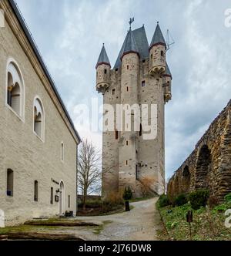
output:
[[[34,101],[34,132],[44,140],[44,110],[39,98]]]

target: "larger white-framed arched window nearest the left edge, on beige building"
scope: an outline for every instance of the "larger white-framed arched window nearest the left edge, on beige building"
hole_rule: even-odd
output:
[[[6,103],[14,112],[24,118],[24,83],[21,72],[15,62],[7,66],[7,97]]]

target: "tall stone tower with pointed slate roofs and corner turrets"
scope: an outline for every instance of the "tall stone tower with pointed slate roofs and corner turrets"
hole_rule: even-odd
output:
[[[96,71],[96,89],[103,95],[103,122],[107,127],[102,138],[102,194],[130,186],[139,197],[144,183],[149,184],[153,194],[163,194],[164,106],[172,97],[172,75],[166,63],[166,41],[159,24],[150,45],[144,26],[129,29],[113,69],[103,45]],[[157,118],[154,119],[152,106],[156,106],[154,117]],[[129,113],[130,108],[131,122],[126,123],[125,113]],[[137,108],[149,109],[149,112],[140,111],[139,116]],[[118,109],[124,110],[123,115],[119,115]],[[143,126],[145,119],[155,124],[156,136],[149,136],[151,131]],[[109,122],[112,123],[110,129]]]

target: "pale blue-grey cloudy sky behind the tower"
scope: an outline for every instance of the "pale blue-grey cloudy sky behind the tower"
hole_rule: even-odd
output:
[[[90,104],[102,43],[112,66],[135,17],[150,40],[159,21],[176,44],[168,52],[173,76],[166,105],[166,177],[181,165],[231,95],[231,27],[228,0],[17,0],[59,93],[78,123],[76,107]],[[101,147],[101,134],[77,126]]]

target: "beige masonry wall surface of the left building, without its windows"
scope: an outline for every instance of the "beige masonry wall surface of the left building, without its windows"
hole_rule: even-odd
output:
[[[62,210],[74,211],[75,214],[78,142],[73,136],[73,130],[71,131],[65,122],[65,113],[58,106],[59,100],[54,92],[52,93],[51,85],[46,82],[42,68],[39,62],[37,63],[38,60],[8,1],[1,1],[0,7],[4,8],[6,18],[5,28],[0,29],[0,209],[5,212],[5,225],[20,224],[33,217],[59,216],[59,202],[55,202],[54,199],[51,204],[51,187],[54,196],[59,195],[61,181],[64,183]],[[18,28],[16,34],[12,28]],[[17,62],[24,80],[25,118],[23,120],[6,103],[6,67],[8,59],[11,58]],[[35,96],[39,96],[44,106],[44,141],[40,140],[33,131]],[[64,143],[63,161],[62,142]],[[8,169],[14,172],[12,197],[7,196],[6,193]],[[34,200],[35,180],[39,182],[38,201]]]

